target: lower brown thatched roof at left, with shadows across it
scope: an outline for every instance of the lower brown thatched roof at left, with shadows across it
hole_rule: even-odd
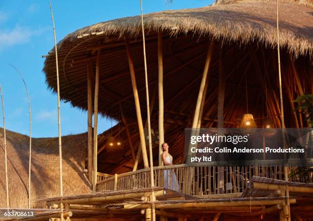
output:
[[[27,208],[29,137],[7,130],[9,203],[11,208]],[[38,197],[59,195],[58,138],[32,139],[32,207]],[[90,185],[82,163],[86,157],[86,134],[62,137],[64,195],[89,193]],[[3,128],[0,130],[0,207],[6,207],[6,179]]]

